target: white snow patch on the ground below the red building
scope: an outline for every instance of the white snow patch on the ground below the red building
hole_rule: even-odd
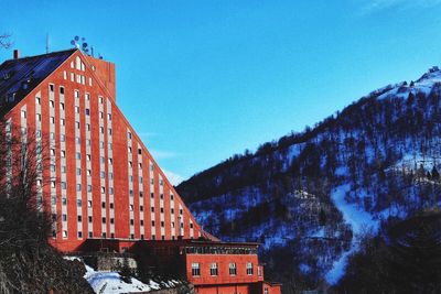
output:
[[[95,293],[100,294],[119,294],[119,293],[137,293],[137,292],[149,292],[159,290],[161,286],[150,281],[149,284],[144,284],[139,280],[132,277],[131,284],[121,281],[119,273],[117,272],[97,272],[88,265],[86,266],[86,274],[84,279],[90,284]]]

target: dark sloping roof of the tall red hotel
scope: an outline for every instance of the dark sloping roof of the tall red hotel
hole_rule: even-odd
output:
[[[0,115],[11,109],[76,50],[6,61],[0,65]]]

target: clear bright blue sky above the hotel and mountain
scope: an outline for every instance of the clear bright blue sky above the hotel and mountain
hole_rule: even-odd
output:
[[[441,61],[440,0],[4,1],[22,55],[85,36],[117,65],[117,101],[186,178],[301,131]],[[1,51],[0,59],[12,55]]]

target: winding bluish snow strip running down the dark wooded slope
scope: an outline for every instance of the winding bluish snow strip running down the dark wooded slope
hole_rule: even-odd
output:
[[[374,220],[370,214],[359,210],[356,205],[346,203],[345,195],[347,190],[349,190],[349,185],[342,185],[335,188],[331,195],[335,206],[342,211],[343,218],[352,226],[354,232],[349,250],[343,252],[342,257],[334,261],[331,271],[325,275],[326,281],[331,284],[335,284],[343,276],[347,258],[358,249],[359,233],[369,228],[374,231],[378,230],[378,220]]]

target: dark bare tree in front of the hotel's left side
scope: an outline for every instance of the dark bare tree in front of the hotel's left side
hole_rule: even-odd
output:
[[[51,164],[47,139],[0,119],[1,294],[93,293],[84,265],[64,260],[47,240],[54,219],[41,195],[56,181],[43,181]]]

